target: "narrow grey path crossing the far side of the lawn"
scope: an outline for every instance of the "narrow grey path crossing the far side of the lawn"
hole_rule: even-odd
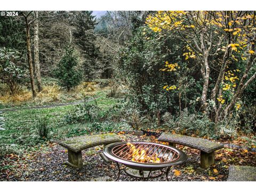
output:
[[[88,101],[93,101],[95,99],[98,98],[90,98],[88,99]],[[5,109],[0,109],[0,112],[4,112],[4,111],[18,111],[18,110],[24,110],[24,109],[45,109],[45,108],[53,108],[53,107],[60,107],[60,106],[69,106],[69,105],[77,105],[79,103],[82,103],[83,100],[81,101],[76,101],[76,102],[68,102],[68,103],[57,103],[57,104],[53,104],[53,105],[46,105],[46,106],[31,106],[31,107],[13,107],[13,108],[5,108]]]

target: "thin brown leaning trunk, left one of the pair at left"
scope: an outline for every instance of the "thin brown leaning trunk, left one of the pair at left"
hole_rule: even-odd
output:
[[[30,26],[28,23],[28,19],[25,16],[26,21],[26,43],[27,43],[27,55],[28,55],[28,66],[29,66],[29,74],[30,74],[30,83],[31,83],[31,89],[33,98],[36,97],[36,90],[35,90],[35,80],[34,80],[34,71],[33,71],[33,62],[32,62],[32,56],[31,56],[31,44],[30,44]]]

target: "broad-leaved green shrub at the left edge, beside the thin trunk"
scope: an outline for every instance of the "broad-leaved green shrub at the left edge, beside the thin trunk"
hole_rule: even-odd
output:
[[[9,86],[11,94],[19,92],[20,84],[26,77],[27,71],[20,59],[18,51],[0,47],[0,82]]]

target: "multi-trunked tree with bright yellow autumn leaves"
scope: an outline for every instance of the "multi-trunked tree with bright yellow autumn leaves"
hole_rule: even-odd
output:
[[[201,65],[202,110],[207,112],[212,103],[215,123],[239,106],[237,101],[256,78],[252,73],[256,60],[255,22],[255,11],[158,11],[147,18],[155,32],[176,34],[186,43],[185,60],[195,59]],[[233,66],[233,70],[229,69],[236,62],[243,71]],[[211,97],[207,95],[210,92]]]

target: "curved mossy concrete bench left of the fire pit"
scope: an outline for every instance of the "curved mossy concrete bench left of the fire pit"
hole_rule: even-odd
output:
[[[81,168],[83,166],[82,150],[99,145],[108,145],[109,143],[119,142],[121,139],[115,133],[86,135],[82,137],[70,138],[59,143],[62,147],[68,149],[67,165]]]

